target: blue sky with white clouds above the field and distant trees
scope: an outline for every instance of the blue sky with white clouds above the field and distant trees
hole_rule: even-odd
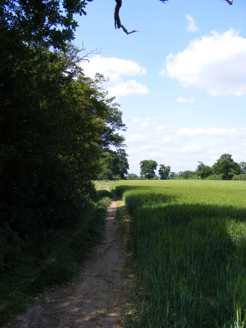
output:
[[[109,78],[129,173],[145,159],[176,173],[224,153],[246,161],[246,1],[122,0],[121,24],[138,30],[129,35],[114,28],[114,6],[88,3],[73,43],[95,51],[86,76]]]

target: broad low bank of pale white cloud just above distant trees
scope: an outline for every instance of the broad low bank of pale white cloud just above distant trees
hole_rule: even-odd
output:
[[[144,130],[138,132],[143,127]],[[158,133],[156,133],[158,132]],[[139,162],[153,159],[158,164],[170,165],[171,171],[194,171],[198,161],[212,166],[224,153],[235,161],[245,161],[246,128],[176,129],[165,118],[158,124],[155,118],[132,118],[126,131],[126,151],[129,154],[129,172],[139,174]]]

